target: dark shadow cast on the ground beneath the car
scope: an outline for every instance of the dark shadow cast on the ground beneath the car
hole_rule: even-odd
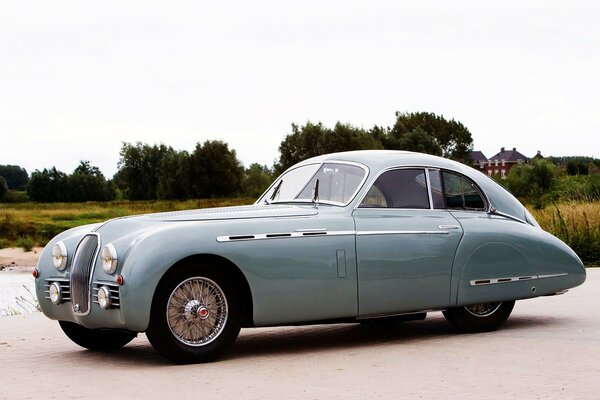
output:
[[[536,326],[569,324],[568,318],[512,316],[498,331],[476,335],[506,335],[527,333]],[[382,346],[409,346],[437,341],[463,340],[465,335],[448,324],[441,314],[425,321],[378,322],[374,324],[331,324],[281,328],[243,329],[233,347],[219,362],[240,358],[305,354],[323,350],[353,348],[380,348]],[[79,351],[74,354],[85,362],[105,362],[136,366],[168,366],[170,361],[161,357],[143,334],[130,345],[108,353]]]

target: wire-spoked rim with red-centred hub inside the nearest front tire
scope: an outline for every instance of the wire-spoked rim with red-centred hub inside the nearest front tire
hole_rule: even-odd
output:
[[[194,277],[181,282],[167,304],[167,324],[182,343],[204,346],[215,340],[227,322],[227,300],[216,282]]]

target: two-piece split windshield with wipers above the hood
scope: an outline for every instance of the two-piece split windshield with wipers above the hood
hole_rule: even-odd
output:
[[[319,202],[346,204],[358,190],[366,171],[341,163],[308,164],[281,175],[259,202],[312,201],[319,182]]]

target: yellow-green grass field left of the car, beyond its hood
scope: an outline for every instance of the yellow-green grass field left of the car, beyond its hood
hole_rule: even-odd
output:
[[[254,199],[111,201],[87,203],[0,203],[0,248],[44,246],[60,232],[134,214],[252,204]]]

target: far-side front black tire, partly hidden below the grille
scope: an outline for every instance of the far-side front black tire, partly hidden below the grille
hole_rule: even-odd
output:
[[[81,347],[94,351],[120,349],[137,336],[135,332],[114,329],[88,329],[69,321],[58,321],[58,323],[69,339]]]

